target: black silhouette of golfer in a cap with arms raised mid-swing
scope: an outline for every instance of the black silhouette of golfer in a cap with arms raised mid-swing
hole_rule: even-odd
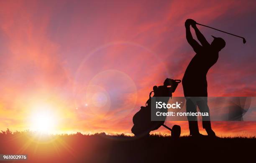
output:
[[[194,28],[197,39],[201,45],[193,39],[190,25]],[[219,57],[219,52],[225,47],[225,41],[222,38],[214,38],[211,44],[207,42],[202,33],[198,30],[195,20],[187,19],[185,22],[186,38],[189,45],[192,46],[196,55],[192,58],[182,79],[184,96],[186,97],[187,112],[197,112],[197,106],[200,112],[208,113],[209,116],[202,117],[202,125],[209,136],[215,136],[211,128],[210,113],[207,105],[207,80],[208,70],[214,65]],[[197,117],[188,116],[190,135],[201,136],[198,129]]]

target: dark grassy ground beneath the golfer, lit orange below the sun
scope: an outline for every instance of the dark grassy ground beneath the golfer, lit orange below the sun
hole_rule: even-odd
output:
[[[256,162],[256,138],[201,138],[151,135],[54,135],[0,133],[0,154],[27,154],[22,162]],[[3,161],[0,161],[0,163]]]

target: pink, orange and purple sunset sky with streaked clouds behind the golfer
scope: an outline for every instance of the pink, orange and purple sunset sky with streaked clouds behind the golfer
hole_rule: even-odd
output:
[[[255,7],[253,0],[0,1],[0,130],[131,134],[153,86],[182,79],[195,55],[187,18],[247,41],[198,26],[208,42],[226,41],[207,75],[208,96],[256,96]],[[173,96],[184,96],[181,84]],[[187,122],[173,124],[189,133]],[[256,122],[212,128],[256,135]]]

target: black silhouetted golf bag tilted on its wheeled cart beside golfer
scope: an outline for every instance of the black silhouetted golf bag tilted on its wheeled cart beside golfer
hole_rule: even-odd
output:
[[[166,80],[164,80],[164,85],[155,85],[153,87],[153,91],[151,91],[149,94],[149,99],[146,102],[146,106],[141,106],[141,110],[139,110],[133,116],[134,125],[131,131],[134,135],[149,135],[151,131],[157,130],[161,125],[164,124],[164,121],[151,121],[151,94],[154,92],[154,97],[166,97],[163,102],[167,103],[180,82],[181,80],[166,78]]]

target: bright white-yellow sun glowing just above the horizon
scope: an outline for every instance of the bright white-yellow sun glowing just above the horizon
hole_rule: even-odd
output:
[[[31,114],[31,130],[41,133],[52,133],[57,124],[57,118],[50,108],[39,108]]]

